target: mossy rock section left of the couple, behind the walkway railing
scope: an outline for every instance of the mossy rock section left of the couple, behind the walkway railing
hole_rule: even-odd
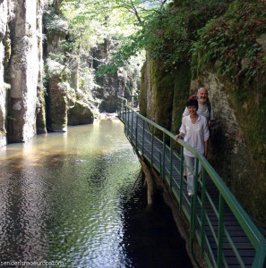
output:
[[[142,67],[140,111],[167,130],[176,132],[188,97],[189,66],[183,63],[176,71],[168,73],[162,65],[148,56]]]

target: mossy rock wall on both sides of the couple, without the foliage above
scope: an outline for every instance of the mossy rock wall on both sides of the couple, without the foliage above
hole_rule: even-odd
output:
[[[167,76],[158,63],[148,58],[142,68],[141,113],[177,133],[188,96],[195,94],[202,85],[208,88],[217,120],[210,132],[208,160],[245,210],[257,221],[266,222],[266,182],[263,167],[258,162],[262,159],[253,154],[247,138],[247,130],[252,131],[256,119],[245,115],[253,114],[254,105],[262,106],[258,100],[263,99],[263,91],[262,96],[250,94],[244,105],[239,106],[236,104],[236,83],[219,77],[214,67],[206,70],[198,80],[191,80],[188,68],[183,64],[174,76]]]

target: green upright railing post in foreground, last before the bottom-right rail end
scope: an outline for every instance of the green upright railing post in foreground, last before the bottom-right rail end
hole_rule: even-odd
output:
[[[219,232],[218,232],[218,267],[223,262],[223,235],[224,235],[224,198],[219,194]]]

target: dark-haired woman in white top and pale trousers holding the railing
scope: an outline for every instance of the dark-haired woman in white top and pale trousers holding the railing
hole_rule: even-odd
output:
[[[196,99],[189,99],[186,103],[189,115],[182,119],[180,133],[177,138],[183,138],[184,142],[193,147],[196,151],[204,155],[208,154],[208,140],[210,137],[207,120],[197,113],[199,105]],[[187,169],[187,192],[188,196],[193,196],[193,172],[196,165],[196,157],[189,150],[184,148],[184,163]],[[202,171],[202,164],[199,163],[199,173]]]

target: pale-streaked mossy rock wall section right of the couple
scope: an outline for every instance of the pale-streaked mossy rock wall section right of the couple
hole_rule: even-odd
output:
[[[244,105],[239,107],[234,96],[236,84],[220,78],[213,70],[205,71],[201,80],[209,88],[217,119],[210,135],[209,161],[248,213],[257,221],[266,222],[266,181],[260,164],[262,159],[253,153],[257,145],[248,140],[253,121],[257,120],[253,114],[254,105],[260,106],[258,99],[262,96],[250,93]]]

